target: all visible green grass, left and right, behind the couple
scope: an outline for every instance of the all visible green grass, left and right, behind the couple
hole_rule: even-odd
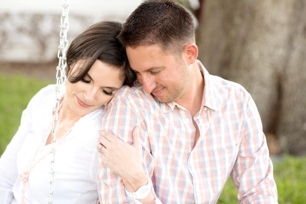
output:
[[[21,113],[30,99],[41,88],[54,81],[42,81],[24,75],[0,74],[0,155],[17,131]],[[278,202],[306,203],[306,156],[287,155],[272,161],[278,188]],[[237,191],[231,179],[226,182],[218,203],[237,203]]]

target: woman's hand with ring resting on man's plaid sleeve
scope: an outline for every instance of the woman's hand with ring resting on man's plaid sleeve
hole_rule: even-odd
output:
[[[120,176],[128,191],[134,192],[140,186],[147,184],[147,178],[142,166],[142,146],[139,126],[133,130],[133,144],[127,144],[117,136],[99,131],[100,155],[102,161],[110,170]],[[101,148],[102,147],[102,148]]]

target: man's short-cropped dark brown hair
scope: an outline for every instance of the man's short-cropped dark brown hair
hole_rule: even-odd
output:
[[[123,46],[159,45],[178,53],[195,42],[195,25],[190,13],[175,1],[148,0],[127,18],[118,38]]]

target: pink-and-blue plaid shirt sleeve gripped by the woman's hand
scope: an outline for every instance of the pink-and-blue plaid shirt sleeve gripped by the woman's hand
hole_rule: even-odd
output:
[[[106,107],[105,115],[102,118],[102,129],[117,135],[121,140],[132,144],[132,132],[136,126],[140,126],[140,137],[143,151],[143,167],[150,182],[154,170],[154,159],[151,155],[150,144],[146,126],[134,108],[132,100],[117,96]],[[115,158],[114,158],[115,159]],[[115,173],[113,173],[99,156],[100,166],[97,176],[98,192],[100,203],[140,203],[138,200],[129,198],[125,193],[125,185]],[[151,182],[152,183],[152,182]],[[155,202],[161,203],[156,197],[153,185],[152,192],[155,196]]]

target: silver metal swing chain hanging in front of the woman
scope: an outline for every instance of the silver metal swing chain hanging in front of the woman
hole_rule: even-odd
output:
[[[48,204],[53,204],[54,196],[54,167],[55,167],[55,151],[56,151],[56,131],[58,129],[58,109],[60,101],[60,85],[65,84],[66,76],[66,52],[68,49],[69,41],[67,40],[67,31],[69,29],[68,14],[69,14],[69,0],[62,0],[62,16],[61,16],[61,31],[60,31],[60,41],[58,46],[58,66],[56,67],[56,87],[55,87],[55,103],[53,107],[53,123],[52,123],[52,133],[53,140],[52,151],[51,151],[51,170],[50,170],[50,190],[48,192]]]

